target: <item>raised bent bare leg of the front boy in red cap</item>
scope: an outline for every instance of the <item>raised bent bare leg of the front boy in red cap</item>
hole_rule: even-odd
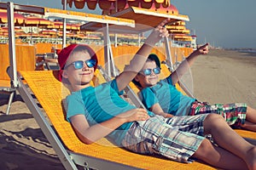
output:
[[[242,139],[224,121],[222,116],[217,114],[208,115],[204,121],[204,128],[205,133],[212,134],[212,138],[220,147],[239,156],[246,162],[248,169],[256,170],[256,146]]]

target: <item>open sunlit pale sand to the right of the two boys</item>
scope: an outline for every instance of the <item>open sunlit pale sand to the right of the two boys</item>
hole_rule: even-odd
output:
[[[195,98],[209,103],[243,102],[256,108],[256,55],[211,50],[191,67]]]

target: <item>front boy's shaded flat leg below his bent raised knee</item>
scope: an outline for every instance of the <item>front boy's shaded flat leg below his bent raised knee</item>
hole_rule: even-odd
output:
[[[213,167],[222,169],[248,169],[246,162],[240,157],[235,156],[234,154],[230,153],[230,151],[212,145],[208,139],[203,140],[200,147],[195,151],[195,154],[192,157],[205,161]]]

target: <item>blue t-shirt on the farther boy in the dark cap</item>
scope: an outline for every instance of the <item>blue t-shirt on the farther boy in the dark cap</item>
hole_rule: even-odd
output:
[[[174,116],[189,115],[189,110],[195,99],[183,95],[172,85],[172,78],[166,77],[153,87],[143,88],[139,93],[147,109],[159,103],[164,112]]]

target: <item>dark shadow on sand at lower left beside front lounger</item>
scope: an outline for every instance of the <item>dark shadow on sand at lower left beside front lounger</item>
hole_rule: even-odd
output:
[[[31,114],[0,116],[0,122],[32,118]],[[26,142],[23,142],[26,141]],[[38,147],[39,146],[39,147]],[[40,128],[27,127],[23,131],[12,132],[0,130],[0,169],[65,169],[54,153],[48,153],[45,148],[51,145],[44,137]]]

